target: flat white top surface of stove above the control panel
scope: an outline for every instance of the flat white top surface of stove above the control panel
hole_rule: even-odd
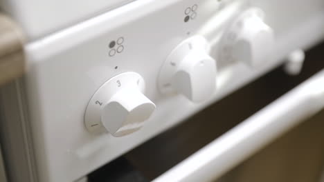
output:
[[[131,1],[0,0],[0,7],[19,22],[28,39],[37,39]]]

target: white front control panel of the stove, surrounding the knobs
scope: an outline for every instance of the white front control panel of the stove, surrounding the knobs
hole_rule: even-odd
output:
[[[50,7],[51,3],[58,7],[59,2],[46,2],[49,5],[44,7]],[[31,16],[49,13],[46,12],[48,9],[41,8],[43,6],[39,6],[42,9],[39,14],[32,13],[33,9],[24,1],[19,3],[23,6],[17,11],[26,7],[26,13]],[[103,1],[78,1],[78,4],[93,10],[107,5]],[[186,9],[192,6],[197,6],[197,16],[186,22]],[[233,17],[254,6],[264,10],[264,21],[275,34],[273,59],[255,68],[240,62],[217,60],[219,37],[226,32]],[[29,17],[22,24],[28,24],[30,29],[26,30],[30,37],[37,37],[51,28],[60,27],[64,22],[60,19],[73,19],[66,15],[69,8],[71,6],[62,8],[62,12],[57,11],[59,17],[39,22],[45,23],[44,27],[37,21],[28,21]],[[91,13],[90,9],[84,14]],[[82,10],[84,8],[71,11],[77,14]],[[21,14],[13,12],[14,16],[25,14],[24,11]],[[48,14],[49,17],[53,15]],[[52,23],[53,26],[45,26]],[[282,63],[292,50],[310,48],[324,38],[323,30],[323,0],[138,0],[31,41],[25,47],[28,60],[25,82],[38,181],[71,182],[87,175],[260,77]],[[177,94],[163,95],[156,83],[170,52],[181,41],[196,34],[210,42],[211,56],[218,65],[217,90],[213,99],[204,103],[192,103]],[[111,41],[118,41],[120,37],[123,42],[120,41],[118,46],[123,46],[123,50],[117,52],[113,50],[117,47],[109,48]],[[123,72],[141,74],[146,83],[145,95],[156,104],[155,112],[134,134],[114,137],[107,133],[89,133],[84,127],[84,112],[91,97],[103,83]]]

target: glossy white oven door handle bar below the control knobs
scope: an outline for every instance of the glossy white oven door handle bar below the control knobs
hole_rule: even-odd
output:
[[[177,164],[154,182],[212,181],[324,108],[324,70]]]

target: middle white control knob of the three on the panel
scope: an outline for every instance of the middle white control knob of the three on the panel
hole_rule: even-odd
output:
[[[180,43],[165,61],[159,75],[161,92],[177,92],[190,101],[208,99],[216,88],[216,61],[208,54],[204,37],[195,36]]]

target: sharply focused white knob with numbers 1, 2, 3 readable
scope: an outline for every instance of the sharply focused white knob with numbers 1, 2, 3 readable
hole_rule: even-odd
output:
[[[145,82],[135,72],[109,79],[91,98],[84,117],[89,132],[124,136],[136,132],[150,118],[155,105],[143,94]]]

